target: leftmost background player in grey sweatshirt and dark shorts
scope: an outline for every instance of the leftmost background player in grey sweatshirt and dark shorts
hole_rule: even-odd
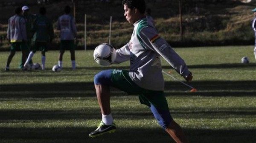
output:
[[[21,50],[22,61],[26,60],[26,49],[27,49],[27,34],[26,34],[26,22],[21,15],[21,7],[15,9],[15,15],[10,17],[8,20],[7,28],[7,39],[11,43],[11,53],[8,56],[6,71],[10,70],[10,63],[16,50]],[[24,64],[24,63],[23,63]]]

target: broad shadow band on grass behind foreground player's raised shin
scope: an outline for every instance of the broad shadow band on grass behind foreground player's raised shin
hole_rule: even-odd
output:
[[[255,96],[256,81],[192,81],[189,83],[197,92],[189,92],[189,87],[177,81],[165,82],[168,95],[202,96]],[[112,88],[112,96],[127,95]],[[40,83],[40,84],[3,84],[0,86],[0,98],[50,98],[50,97],[95,97],[92,82]]]

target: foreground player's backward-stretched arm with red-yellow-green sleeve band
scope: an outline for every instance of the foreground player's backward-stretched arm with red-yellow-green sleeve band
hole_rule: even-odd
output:
[[[188,70],[184,60],[172,49],[172,47],[158,34],[154,28],[150,26],[142,28],[139,33],[145,48],[157,52],[163,59],[166,60],[183,78],[189,76]]]

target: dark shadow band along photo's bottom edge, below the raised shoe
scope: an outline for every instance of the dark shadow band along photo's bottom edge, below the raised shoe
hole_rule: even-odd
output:
[[[88,137],[95,127],[0,128],[0,141],[8,143],[175,143],[162,129],[122,128],[113,134]],[[184,129],[191,143],[255,143],[250,129]]]

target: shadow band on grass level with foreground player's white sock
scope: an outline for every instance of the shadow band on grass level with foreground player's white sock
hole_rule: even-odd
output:
[[[96,102],[96,101],[95,101]],[[22,123],[31,121],[61,121],[61,120],[100,120],[101,113],[99,107],[84,107],[81,109],[1,109],[1,123]],[[125,109],[128,108],[128,109]],[[170,108],[174,118],[183,119],[227,119],[227,118],[254,118],[256,107],[251,108],[212,108],[212,109],[191,109],[187,108]],[[154,119],[150,109],[145,105],[140,108],[127,107],[113,108],[112,113],[117,120],[134,120],[134,119]]]

